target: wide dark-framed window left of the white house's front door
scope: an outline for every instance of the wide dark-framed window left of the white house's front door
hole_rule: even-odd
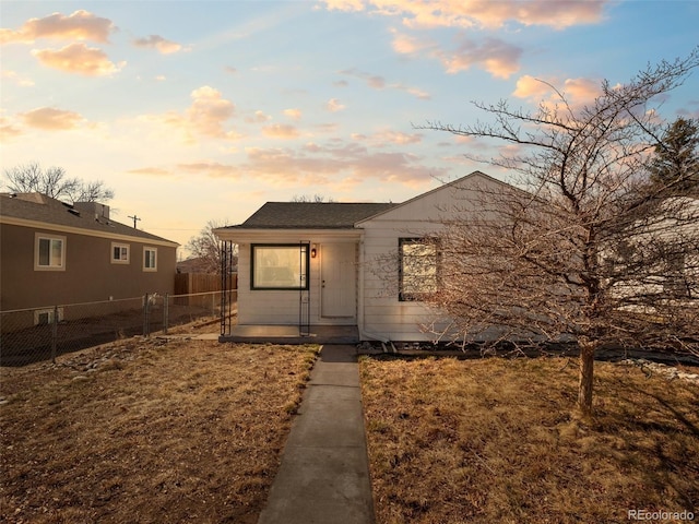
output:
[[[252,289],[308,289],[308,245],[252,245]]]

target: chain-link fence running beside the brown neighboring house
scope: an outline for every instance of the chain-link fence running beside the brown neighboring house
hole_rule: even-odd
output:
[[[168,334],[209,323],[217,332],[221,306],[236,291],[146,294],[100,302],[0,311],[0,366],[25,366],[134,335]],[[223,295],[223,296],[222,296]]]

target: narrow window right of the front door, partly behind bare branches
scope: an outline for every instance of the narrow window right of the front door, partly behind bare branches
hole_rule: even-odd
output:
[[[399,239],[399,300],[424,300],[437,290],[437,247],[419,238]]]

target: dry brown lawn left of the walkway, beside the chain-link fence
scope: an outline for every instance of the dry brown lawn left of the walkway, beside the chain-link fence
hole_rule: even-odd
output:
[[[131,340],[2,368],[0,521],[256,522],[317,349]]]

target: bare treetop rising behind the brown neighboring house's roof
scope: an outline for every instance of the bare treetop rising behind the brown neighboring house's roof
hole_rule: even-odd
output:
[[[31,163],[5,169],[7,188],[15,193],[43,193],[52,199],[75,202],[106,202],[114,199],[114,191],[103,181],[84,182],[69,178],[62,167],[42,168]]]

